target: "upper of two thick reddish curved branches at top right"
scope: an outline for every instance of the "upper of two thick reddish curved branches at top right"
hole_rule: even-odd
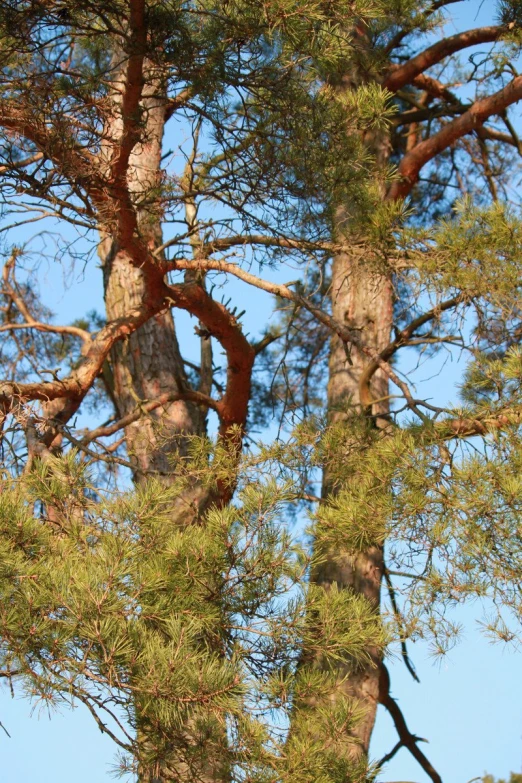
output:
[[[390,92],[397,92],[406,84],[411,84],[420,73],[455,52],[477,44],[493,43],[506,32],[507,28],[504,25],[493,25],[491,27],[477,27],[474,30],[466,30],[463,33],[451,35],[449,38],[443,38],[403,65],[393,66],[384,78],[383,87],[386,87]]]

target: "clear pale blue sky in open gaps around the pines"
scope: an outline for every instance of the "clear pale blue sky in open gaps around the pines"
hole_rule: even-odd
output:
[[[455,26],[462,29],[489,22],[494,6],[491,0],[457,3],[452,11]],[[64,295],[54,295],[63,290],[61,268],[51,263],[42,272],[46,277],[42,287],[60,321],[78,317],[87,299],[92,302],[87,309],[95,306],[96,300],[101,302],[100,273],[94,260],[84,273],[73,276]],[[239,293],[239,285],[234,284],[231,291]],[[271,312],[270,298],[241,288],[237,301],[243,306],[248,302],[245,319],[255,334]],[[192,335],[193,324],[187,316],[179,321],[178,331],[183,342]],[[429,381],[426,396],[452,396],[457,374],[454,364],[446,365],[438,378]],[[421,383],[421,393],[425,388]],[[392,694],[399,698],[410,730],[429,739],[423,750],[444,783],[466,783],[486,771],[498,777],[507,776],[510,770],[522,771],[522,655],[512,648],[489,644],[478,632],[477,617],[477,607],[458,615],[466,628],[464,637],[442,662],[430,659],[422,645],[411,648],[420,685],[412,681],[400,661],[389,662]],[[111,779],[114,746],[100,734],[84,708],[63,710],[51,720],[38,708],[32,716],[30,711],[26,700],[13,700],[7,689],[1,691],[0,721],[11,738],[0,731],[0,783],[104,783]],[[391,721],[379,708],[373,756],[381,757],[395,742]],[[403,749],[388,765],[382,780],[425,783],[428,778]]]

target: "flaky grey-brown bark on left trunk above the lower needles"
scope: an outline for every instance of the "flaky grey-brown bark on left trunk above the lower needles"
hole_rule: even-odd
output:
[[[149,83],[149,91],[159,86]],[[145,94],[142,100],[145,133],[129,155],[127,184],[135,202],[147,204],[138,211],[138,230],[153,248],[161,244],[161,209],[154,204],[154,192],[160,181],[160,161],[165,122],[165,100]],[[116,119],[110,135],[122,133]],[[110,155],[110,153],[109,153]],[[141,269],[132,264],[124,249],[110,236],[100,244],[99,254],[104,272],[107,318],[123,316],[147,296],[147,281]],[[114,396],[119,416],[136,409],[142,401],[153,400],[163,393],[182,393],[186,377],[172,313],[156,315],[112,350]],[[201,419],[193,404],[176,401],[143,417],[125,430],[129,455],[137,475],[159,471],[165,479],[171,473],[169,458],[179,450],[185,452],[183,435],[198,432]]]

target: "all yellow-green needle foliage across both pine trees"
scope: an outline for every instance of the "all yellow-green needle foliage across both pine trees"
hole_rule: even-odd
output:
[[[466,314],[467,325],[470,312],[474,322],[464,407],[419,415],[413,406],[415,424],[392,412],[376,427],[351,401],[335,411],[336,423],[306,418],[324,404],[330,331],[296,307],[285,313],[284,348],[272,357],[283,382],[257,402],[266,407],[279,394],[285,411],[296,418],[304,411],[304,420],[286,441],[256,444],[239,464],[227,445],[187,436],[189,456],[176,455],[168,481],[121,491],[86,464],[97,455],[110,462],[112,452],[99,444],[81,457],[66,444],[60,457],[31,454],[22,473],[21,441],[6,441],[14,459],[5,458],[0,486],[2,673],[36,703],[84,703],[124,752],[123,773],[170,765],[190,783],[225,766],[249,783],[363,783],[373,772],[366,759],[351,759],[351,746],[364,705],[339,696],[340,678],[372,666],[390,640],[427,638],[445,652],[458,633],[449,610],[464,600],[483,602],[493,638],[520,638],[520,218],[500,203],[478,209],[463,201],[429,229],[418,228],[419,214],[414,227],[399,229],[412,213],[383,203],[383,186],[396,174],[370,150],[391,138],[404,100],[392,102],[379,83],[390,52],[441,24],[431,7],[429,0],[147,5],[147,87],[161,83],[164,102],[190,93],[178,118],[192,150],[180,143],[174,164],[132,205],[158,224],[181,223],[171,258],[194,250],[190,193],[206,243],[257,230],[306,240],[291,257],[306,265],[306,279],[293,285],[317,307],[329,307],[324,248],[351,233],[366,271],[393,272],[399,323],[426,302],[436,308],[458,299],[451,316],[435,313],[429,331],[416,335],[423,350],[458,342],[450,326],[458,330]],[[55,150],[66,139],[66,151],[91,160],[106,143],[117,106],[110,69],[134,52],[128,11],[125,2],[2,5],[1,97],[51,133],[44,159],[22,173],[12,164],[37,145],[5,134],[7,208],[52,209],[82,231],[99,228],[84,178],[57,167]],[[517,25],[519,4],[501,3],[500,14]],[[510,53],[486,58],[494,78]],[[137,114],[139,136],[145,111]],[[192,169],[181,174],[188,160]],[[436,197],[429,199],[431,218]],[[336,232],[339,205],[345,220]],[[310,247],[322,240],[311,262]],[[267,252],[263,263],[279,263],[280,248]],[[49,320],[30,281],[19,291],[34,316]],[[22,325],[13,297],[2,305],[6,324]],[[101,323],[91,315],[76,325],[95,331]],[[77,365],[77,337],[33,332],[3,349],[6,377],[21,382]],[[36,408],[13,410],[20,435]],[[460,442],[466,426],[478,445]],[[228,434],[236,443],[244,435],[240,427]],[[328,486],[315,503],[310,490],[320,471]],[[230,494],[237,488],[234,501],[199,508],[198,491],[212,498],[217,484]],[[303,542],[289,520],[304,508]],[[385,541],[394,598],[384,622],[360,594],[309,584],[326,560],[350,564]]]

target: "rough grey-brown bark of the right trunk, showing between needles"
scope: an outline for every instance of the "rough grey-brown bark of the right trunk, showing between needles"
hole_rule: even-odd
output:
[[[366,31],[355,30],[361,46],[366,45]],[[356,89],[367,81],[368,76],[361,69],[346,73],[338,83],[338,89]],[[367,134],[365,144],[375,155],[379,166],[384,166],[390,153],[390,142],[386,134]],[[385,198],[384,186],[381,188]],[[334,335],[331,339],[328,380],[328,421],[330,424],[345,422],[349,430],[350,419],[371,415],[373,426],[384,426],[385,420],[379,414],[388,412],[388,379],[377,370],[371,380],[371,394],[375,403],[368,410],[367,400],[361,399],[361,379],[369,364],[364,349],[372,354],[379,353],[390,342],[393,318],[392,281],[386,271],[379,268],[371,254],[361,243],[358,216],[350,205],[342,205],[336,214],[334,240],[351,251],[337,253],[332,265],[331,302],[332,315],[336,321],[353,330],[360,348],[352,347],[347,355],[346,344]],[[364,237],[362,237],[364,239]],[[349,439],[349,434],[348,434]],[[351,479],[357,481],[357,475]],[[323,498],[335,494],[337,487],[328,470],[323,475]],[[365,551],[330,551],[312,574],[313,581],[329,589],[350,590],[364,596],[375,612],[380,609],[380,590],[383,576],[383,547],[375,543]],[[351,730],[344,752],[354,762],[368,756],[379,703],[380,656],[375,649],[368,650],[371,662],[355,666],[350,661],[340,664],[338,669],[338,692],[357,700],[364,715]]]

